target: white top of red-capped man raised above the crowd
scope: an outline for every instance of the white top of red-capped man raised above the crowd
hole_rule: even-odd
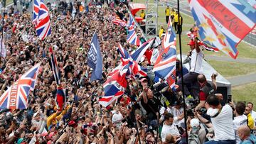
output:
[[[190,72],[196,72],[198,74],[203,74],[203,51],[196,52],[196,48],[192,50],[191,55],[191,70]]]

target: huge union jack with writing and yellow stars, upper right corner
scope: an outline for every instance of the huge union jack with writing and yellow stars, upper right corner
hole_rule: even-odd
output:
[[[245,0],[188,0],[201,39],[234,59],[237,46],[255,28],[256,10]]]

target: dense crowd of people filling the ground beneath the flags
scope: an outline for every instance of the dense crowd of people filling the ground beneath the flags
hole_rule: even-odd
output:
[[[186,143],[187,139],[191,144],[256,143],[253,104],[220,103],[223,96],[215,94],[218,76],[213,74],[212,82],[206,81],[201,67],[203,52],[196,40],[188,43],[191,70],[181,70],[182,63],[176,62],[177,77],[181,71],[184,74],[186,108],[181,88],[174,92],[150,77],[128,79],[124,95],[107,107],[101,106],[102,82],[120,63],[117,45],[121,43],[128,52],[137,48],[126,42],[127,29],[112,23],[116,16],[129,20],[127,7],[119,1],[58,2],[50,9],[52,32],[45,40],[37,37],[31,13],[26,11],[9,11],[1,26],[6,57],[1,57],[0,95],[33,65],[42,64],[35,89],[28,96],[28,109],[1,109],[0,143],[167,144]],[[166,18],[172,13],[167,12]],[[86,62],[95,31],[102,52],[103,78],[90,82],[92,69]],[[151,46],[148,52],[160,47]],[[60,85],[50,67],[49,48],[58,61]],[[152,67],[147,57],[139,65],[149,72]],[[180,80],[177,85],[181,87]],[[62,111],[55,102],[58,87],[65,89],[67,98]]]

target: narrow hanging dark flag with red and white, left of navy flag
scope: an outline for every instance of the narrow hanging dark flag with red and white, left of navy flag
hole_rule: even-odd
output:
[[[50,64],[51,64],[51,68],[53,70],[53,76],[54,76],[56,83],[59,85],[60,84],[60,71],[58,68],[58,62],[55,57],[55,53],[53,52],[53,48],[49,48],[49,51],[50,51]]]

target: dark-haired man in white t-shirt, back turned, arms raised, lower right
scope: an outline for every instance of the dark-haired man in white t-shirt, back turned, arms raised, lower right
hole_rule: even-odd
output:
[[[230,105],[222,106],[218,96],[208,96],[206,103],[207,114],[213,124],[214,140],[211,143],[235,143],[235,131],[233,129],[233,109]]]

